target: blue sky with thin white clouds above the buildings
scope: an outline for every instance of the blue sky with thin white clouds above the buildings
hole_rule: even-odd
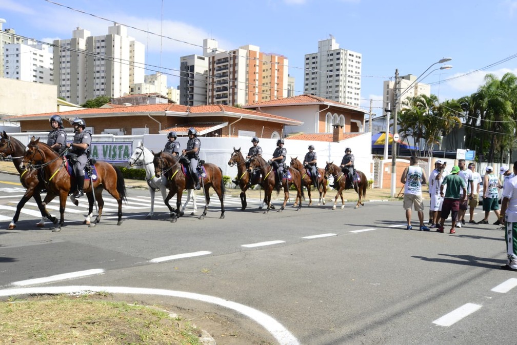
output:
[[[76,27],[97,36],[126,25],[145,45],[147,74],[167,73],[169,86],[179,84],[179,58],[202,55],[205,38],[221,50],[257,45],[288,59],[295,95],[305,54],[332,35],[362,54],[361,107],[369,112],[373,99],[376,114],[396,69],[423,73],[440,101],[475,92],[486,73],[517,74],[517,0],[2,0],[0,18],[4,29],[45,42],[69,39]],[[445,57],[453,67],[434,71]]]

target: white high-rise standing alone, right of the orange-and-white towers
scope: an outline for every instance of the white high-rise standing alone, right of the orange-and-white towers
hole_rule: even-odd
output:
[[[340,49],[333,37],[318,41],[318,52],[305,55],[303,93],[359,106],[360,53]]]

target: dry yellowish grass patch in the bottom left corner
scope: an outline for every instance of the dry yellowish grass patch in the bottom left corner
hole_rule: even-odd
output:
[[[0,302],[0,344],[198,345],[200,330],[168,312],[102,294]]]

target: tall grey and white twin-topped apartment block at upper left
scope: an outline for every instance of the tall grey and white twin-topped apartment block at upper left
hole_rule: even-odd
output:
[[[108,35],[77,28],[72,38],[54,40],[54,84],[58,96],[82,104],[99,96],[117,98],[144,82],[144,45],[114,24]]]

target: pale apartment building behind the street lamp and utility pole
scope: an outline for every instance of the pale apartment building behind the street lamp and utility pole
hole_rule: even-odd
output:
[[[426,95],[431,96],[431,85],[423,84],[423,83],[415,83],[417,80],[417,76],[413,74],[408,74],[399,77],[399,95],[404,92],[402,96],[399,97],[397,102],[397,111],[399,112],[401,108],[403,108],[403,102],[408,97],[415,97],[418,95]],[[411,85],[415,83],[414,85]],[[394,101],[394,81],[384,81],[383,83],[383,116],[386,116],[386,109],[391,108]],[[411,86],[410,89],[408,87]]]

